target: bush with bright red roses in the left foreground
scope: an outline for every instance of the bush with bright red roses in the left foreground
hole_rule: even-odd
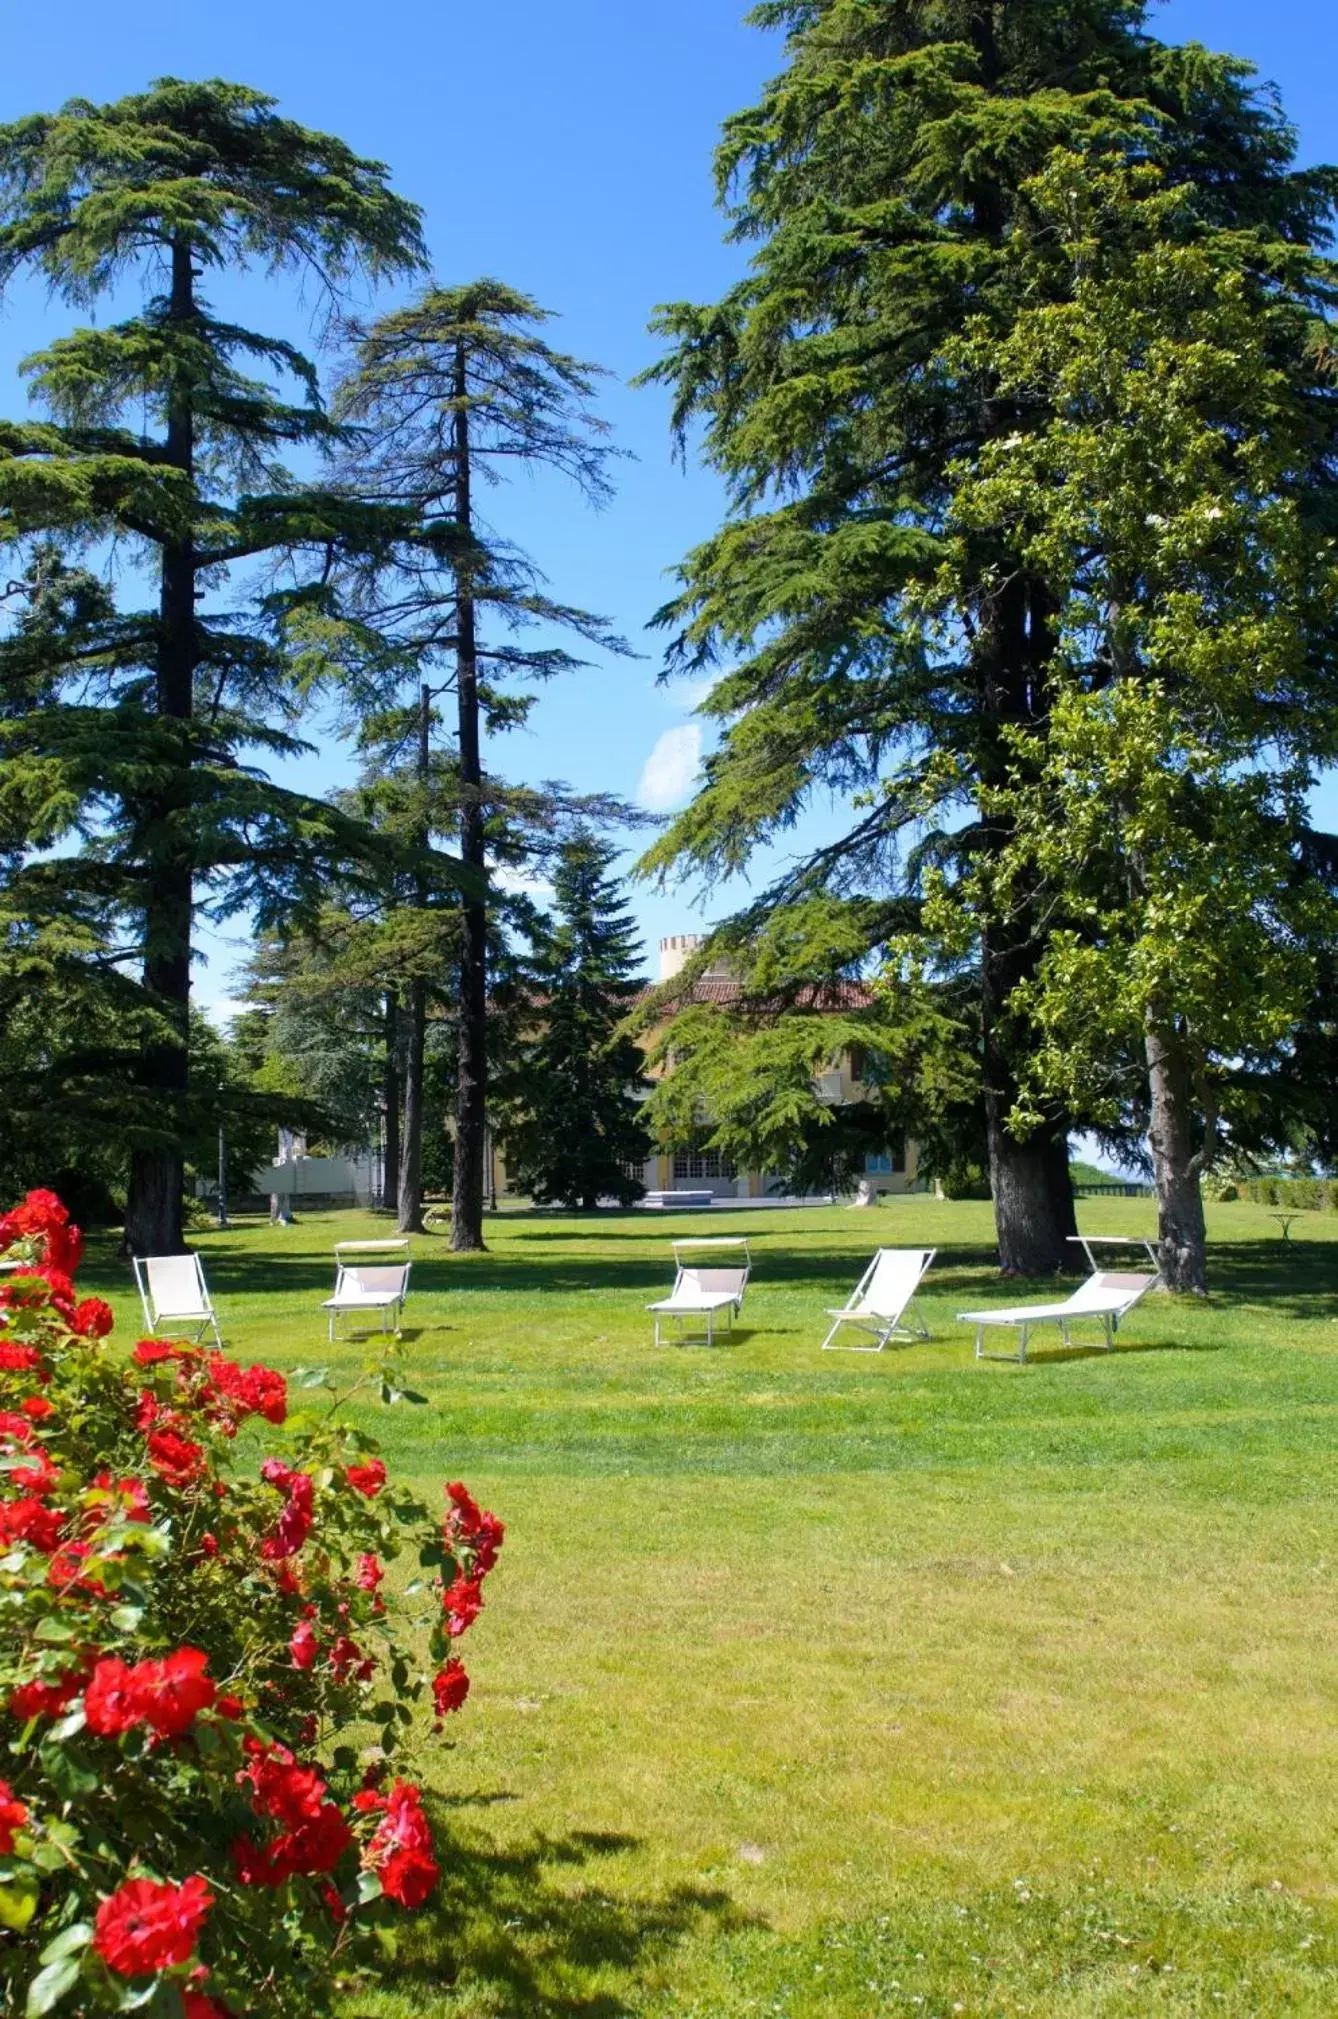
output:
[[[408,1769],[503,1524],[270,1367],[109,1345],[81,1246],[0,1215],[0,2009],[311,2019],[438,1882]]]

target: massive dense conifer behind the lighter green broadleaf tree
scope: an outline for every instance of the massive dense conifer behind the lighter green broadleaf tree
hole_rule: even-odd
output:
[[[1035,307],[1009,244],[1051,153],[1156,162],[1213,224],[1322,226],[1328,182],[1294,172],[1247,69],[1160,44],[1144,16],[1142,0],[755,8],[787,32],[787,63],[718,153],[751,273],[714,307],[660,315],[670,349],[652,374],[733,495],[664,612],[672,666],[731,668],[706,703],[724,737],[648,866],[731,872],[821,791],[850,822],[739,921],[737,961],[793,909],[797,969],[823,965],[852,896],[914,907],[926,866],[955,882],[1009,846],[987,800],[1011,737],[1049,715],[1055,592],[1005,527],[949,551],[961,472],[1019,428],[1017,402],[955,343],[969,325],[1003,341]],[[1084,1119],[1051,1098],[1025,1135],[1011,1127],[1047,917],[1047,892],[1017,886],[1011,911],[975,919],[973,947],[999,1254],[1025,1272],[1066,1258],[1068,1131]],[[908,945],[902,909],[888,921],[835,971],[914,967],[916,927]]]

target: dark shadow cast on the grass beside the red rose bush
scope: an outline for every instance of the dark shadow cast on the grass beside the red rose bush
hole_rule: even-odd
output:
[[[648,1973],[682,1940],[759,1926],[718,1888],[628,1896],[601,1884],[601,1859],[638,1849],[636,1837],[575,1829],[496,1845],[458,1823],[476,1801],[450,1803],[442,1878],[381,1977],[418,2011],[438,2011],[434,1993],[458,1991],[462,2011],[494,2019],[626,2019],[644,2009]]]

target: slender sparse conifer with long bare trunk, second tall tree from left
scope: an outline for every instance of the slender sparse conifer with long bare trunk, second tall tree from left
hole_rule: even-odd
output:
[[[492,533],[478,493],[519,468],[567,476],[599,505],[609,497],[605,424],[591,400],[595,367],[541,335],[549,311],[500,281],[430,287],[412,307],[355,333],[353,367],[337,412],[367,430],[351,487],[410,521],[377,565],[363,571],[361,614],[394,640],[440,690],[456,699],[458,844],[474,882],[460,907],[456,999],[456,1119],[452,1248],[482,1248],[488,1022],[488,828],[505,791],[482,761],[484,727],[523,721],[517,682],[547,680],[579,664],[559,632],[628,648],[601,618],[555,602],[533,563]],[[527,632],[539,626],[547,638]],[[422,703],[424,711],[428,701]],[[426,759],[424,759],[426,761]],[[418,1112],[426,993],[408,1001],[408,1117]]]

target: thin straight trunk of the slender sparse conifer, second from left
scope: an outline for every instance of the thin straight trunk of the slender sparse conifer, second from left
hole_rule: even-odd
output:
[[[464,343],[456,347],[456,523],[468,539],[470,509],[470,438],[468,438],[468,378]],[[458,581],[458,648],[456,705],[460,721],[460,860],[480,878],[484,874],[482,763],[478,747],[478,640],[474,626],[474,594],[470,559],[456,571]],[[460,989],[456,1014],[456,1155],[450,1191],[450,1246],[470,1252],[484,1246],[484,1141],[488,1102],[488,911],[482,898],[464,896],[460,935]]]

